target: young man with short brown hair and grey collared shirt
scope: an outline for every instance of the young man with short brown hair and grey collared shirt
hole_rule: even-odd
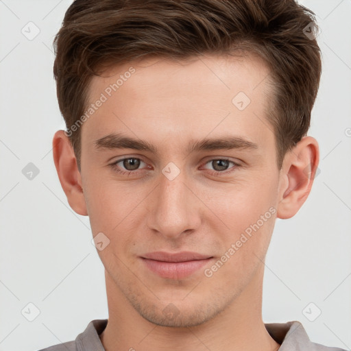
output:
[[[293,0],[73,2],[53,157],[89,216],[109,316],[45,350],[341,350],[261,312],[274,223],[319,162],[313,30]]]

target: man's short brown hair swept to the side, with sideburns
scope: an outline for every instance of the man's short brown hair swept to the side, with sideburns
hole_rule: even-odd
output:
[[[308,30],[306,30],[306,28]],[[315,14],[295,0],[75,0],[54,39],[58,104],[67,130],[82,117],[99,67],[149,56],[258,53],[274,94],[267,120],[280,169],[306,135],[322,70]],[[80,128],[70,141],[80,170]]]

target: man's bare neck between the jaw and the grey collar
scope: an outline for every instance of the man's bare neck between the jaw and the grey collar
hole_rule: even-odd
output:
[[[275,351],[280,344],[262,320],[263,269],[213,319],[185,328],[158,326],[139,315],[106,273],[109,319],[100,339],[106,351]]]

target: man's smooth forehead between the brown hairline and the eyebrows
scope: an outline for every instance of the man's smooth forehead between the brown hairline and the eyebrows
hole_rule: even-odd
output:
[[[82,141],[123,132],[168,145],[232,130],[260,143],[272,137],[265,121],[267,82],[269,69],[257,56],[149,58],[113,66],[90,83],[88,105],[102,95],[105,101],[84,122]]]

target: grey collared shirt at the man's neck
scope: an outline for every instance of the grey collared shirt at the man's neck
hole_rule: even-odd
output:
[[[94,319],[88,324],[86,330],[75,338],[75,341],[59,343],[39,351],[105,351],[99,335],[106,328],[107,322],[108,319]],[[280,343],[279,351],[346,351],[342,348],[313,343],[298,321],[266,323],[265,327],[269,335]]]

